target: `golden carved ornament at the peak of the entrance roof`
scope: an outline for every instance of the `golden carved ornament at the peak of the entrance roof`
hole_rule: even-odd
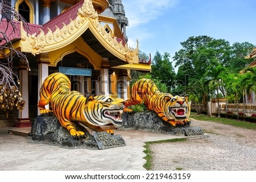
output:
[[[92,0],[84,0],[77,13],[82,17],[98,18],[98,13],[93,7]]]

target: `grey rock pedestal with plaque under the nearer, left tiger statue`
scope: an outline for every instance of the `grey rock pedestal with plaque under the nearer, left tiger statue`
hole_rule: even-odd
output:
[[[93,132],[93,135],[81,126],[79,122],[72,121],[75,128],[85,133],[84,136],[71,136],[66,128],[61,126],[55,116],[37,116],[32,123],[28,134],[29,143],[47,143],[58,145],[67,149],[109,149],[125,146],[121,135],[110,136],[106,132]]]

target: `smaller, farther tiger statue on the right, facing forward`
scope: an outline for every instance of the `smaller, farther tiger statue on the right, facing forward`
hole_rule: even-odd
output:
[[[131,98],[125,102],[124,112],[133,112],[130,105],[141,104],[148,111],[155,111],[160,118],[172,126],[189,125],[190,105],[188,96],[172,96],[158,90],[151,79],[140,79],[131,88]]]

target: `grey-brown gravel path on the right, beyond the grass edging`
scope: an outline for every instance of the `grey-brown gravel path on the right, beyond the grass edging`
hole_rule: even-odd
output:
[[[255,171],[256,130],[209,121],[192,121],[209,137],[151,145],[151,170]]]

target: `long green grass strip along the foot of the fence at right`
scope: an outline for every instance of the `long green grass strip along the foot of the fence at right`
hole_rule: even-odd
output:
[[[222,118],[222,117],[208,117],[207,115],[197,115],[197,113],[195,112],[191,112],[190,117],[200,121],[213,121],[221,124],[256,130],[256,123],[253,123],[253,122],[237,121],[230,118]]]

